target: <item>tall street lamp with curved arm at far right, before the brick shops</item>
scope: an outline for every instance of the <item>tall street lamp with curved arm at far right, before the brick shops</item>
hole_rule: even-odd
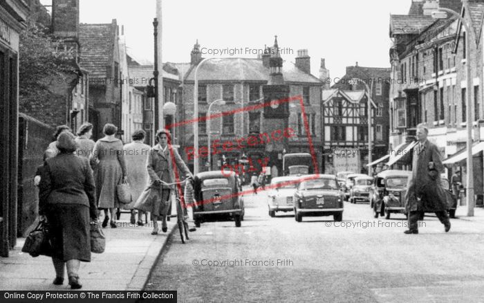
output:
[[[467,1],[463,1],[463,4],[467,4]],[[467,6],[465,6],[467,8]],[[438,8],[436,12],[432,12],[432,17],[435,19],[446,19],[447,12],[460,20],[465,28],[465,33],[467,35],[465,39],[465,50],[466,50],[466,72],[467,72],[467,113],[466,113],[466,129],[467,129],[467,192],[466,192],[466,203],[467,203],[467,217],[474,217],[474,167],[472,166],[472,79],[471,79],[471,41],[473,33],[472,29],[465,21],[465,19],[460,16],[458,12],[454,10],[449,10],[448,8]],[[467,10],[465,10],[467,12]]]

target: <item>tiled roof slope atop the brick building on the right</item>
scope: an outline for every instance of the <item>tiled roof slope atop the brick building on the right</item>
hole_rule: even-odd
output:
[[[425,15],[390,15],[390,36],[418,34],[434,21]]]

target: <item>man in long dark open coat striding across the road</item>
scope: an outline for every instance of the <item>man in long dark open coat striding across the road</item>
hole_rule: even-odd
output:
[[[436,145],[427,140],[428,134],[427,127],[418,125],[418,144],[409,154],[412,156],[412,176],[407,184],[406,210],[409,214],[409,230],[405,230],[405,234],[418,234],[417,222],[422,212],[435,212],[440,223],[445,226],[445,232],[450,230],[447,199],[440,181],[444,166]]]

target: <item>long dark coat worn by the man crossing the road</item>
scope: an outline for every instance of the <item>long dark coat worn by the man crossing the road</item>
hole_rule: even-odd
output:
[[[427,140],[422,150],[418,145],[411,153],[412,176],[407,185],[407,211],[423,210],[434,212],[447,210],[447,198],[443,190],[440,174],[444,172],[442,157],[438,148]],[[406,157],[407,163],[410,157]],[[429,163],[434,163],[435,178],[429,174]],[[418,201],[420,198],[420,201]]]

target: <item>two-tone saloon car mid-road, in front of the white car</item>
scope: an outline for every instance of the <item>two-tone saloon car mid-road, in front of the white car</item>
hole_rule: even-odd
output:
[[[306,216],[333,216],[335,221],[343,220],[343,194],[334,175],[308,175],[300,181],[293,200],[297,222]]]

